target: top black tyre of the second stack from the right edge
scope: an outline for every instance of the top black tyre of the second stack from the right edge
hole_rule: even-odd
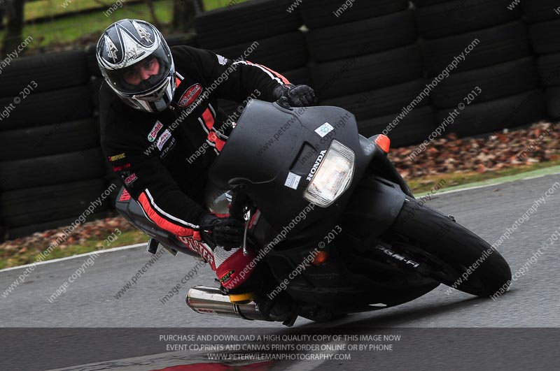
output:
[[[519,19],[521,6],[507,10],[511,0],[470,0],[460,8],[456,1],[447,1],[419,8],[416,24],[423,38],[441,38],[492,27]]]

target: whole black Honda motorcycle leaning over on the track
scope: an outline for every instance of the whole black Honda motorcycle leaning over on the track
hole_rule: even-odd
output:
[[[440,283],[475,296],[507,284],[510,267],[496,250],[416,201],[389,144],[360,136],[342,108],[248,103],[210,170],[207,207],[246,220],[243,249],[255,254],[259,286],[245,301],[195,286],[188,305],[291,326],[298,316],[325,321],[406,303]],[[123,192],[117,209],[153,238],[148,251],[197,255],[185,243],[200,242],[162,230]]]

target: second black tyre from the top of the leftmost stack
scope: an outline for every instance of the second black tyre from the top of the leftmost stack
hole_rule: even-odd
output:
[[[18,104],[14,103],[14,97],[1,98],[0,107],[8,106],[9,116],[0,121],[0,131],[71,122],[91,117],[91,90],[83,85],[52,92],[33,92]]]

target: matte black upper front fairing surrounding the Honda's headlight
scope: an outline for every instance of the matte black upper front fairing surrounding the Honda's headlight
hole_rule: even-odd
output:
[[[335,129],[321,137],[315,130],[325,122]],[[327,208],[315,206],[304,223],[292,223],[288,235],[321,238],[321,232],[330,229],[339,217],[372,154],[372,148],[364,150],[360,145],[356,119],[350,112],[337,107],[284,108],[276,103],[251,101],[209,176],[219,187],[229,186],[248,194],[268,224],[281,231],[309,206],[303,198],[310,182],[307,177],[333,139],[356,154],[351,185]],[[301,176],[297,189],[284,185],[288,173]]]

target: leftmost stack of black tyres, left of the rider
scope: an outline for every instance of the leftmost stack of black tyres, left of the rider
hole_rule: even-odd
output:
[[[21,57],[0,75],[0,212],[8,238],[76,220],[106,188],[83,51]],[[106,203],[93,212],[106,210]]]

